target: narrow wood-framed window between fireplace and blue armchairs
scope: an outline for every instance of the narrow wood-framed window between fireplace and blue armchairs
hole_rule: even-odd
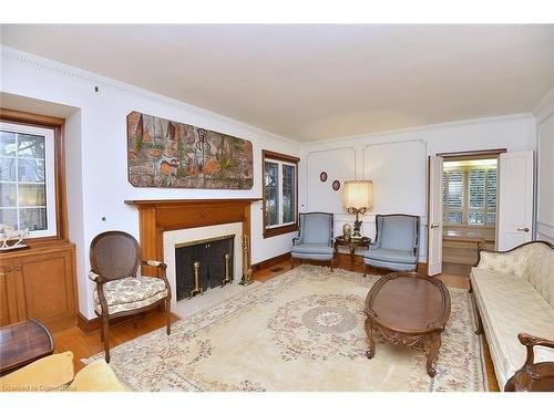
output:
[[[299,158],[263,152],[264,237],[298,230],[297,188]]]

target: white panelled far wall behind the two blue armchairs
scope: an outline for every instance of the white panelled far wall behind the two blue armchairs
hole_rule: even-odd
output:
[[[375,237],[375,215],[407,212],[421,216],[420,260],[425,260],[427,165],[438,153],[506,148],[535,148],[531,114],[469,120],[397,132],[345,137],[302,145],[300,152],[301,210],[336,214],[335,235],[353,217],[342,207],[335,179],[373,180],[373,209],[363,217],[363,235]],[[328,173],[326,183],[319,173]]]

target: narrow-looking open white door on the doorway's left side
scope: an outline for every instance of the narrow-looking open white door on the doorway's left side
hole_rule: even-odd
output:
[[[442,157],[429,156],[427,205],[427,267],[429,276],[442,272]]]

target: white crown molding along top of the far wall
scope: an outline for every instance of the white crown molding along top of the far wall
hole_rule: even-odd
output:
[[[497,122],[502,122],[502,121],[524,120],[524,118],[532,118],[532,117],[533,117],[532,113],[517,113],[517,114],[507,114],[507,115],[495,115],[495,116],[481,117],[481,118],[449,121],[447,123],[424,124],[424,125],[418,125],[418,126],[413,126],[413,127],[397,128],[397,129],[383,129],[383,131],[378,131],[378,132],[372,132],[372,133],[347,135],[347,136],[336,137],[336,138],[302,142],[302,143],[300,143],[300,145],[301,146],[310,146],[310,145],[319,145],[319,144],[332,144],[332,143],[347,142],[347,141],[361,141],[361,139],[368,139],[368,138],[375,138],[375,137],[382,137],[384,135],[419,133],[419,132],[428,131],[428,129],[451,128],[451,127],[458,127],[458,126],[462,126],[462,125],[488,124],[488,123],[497,123]],[[389,139],[383,141],[383,143],[388,143],[388,142],[389,142]]]

